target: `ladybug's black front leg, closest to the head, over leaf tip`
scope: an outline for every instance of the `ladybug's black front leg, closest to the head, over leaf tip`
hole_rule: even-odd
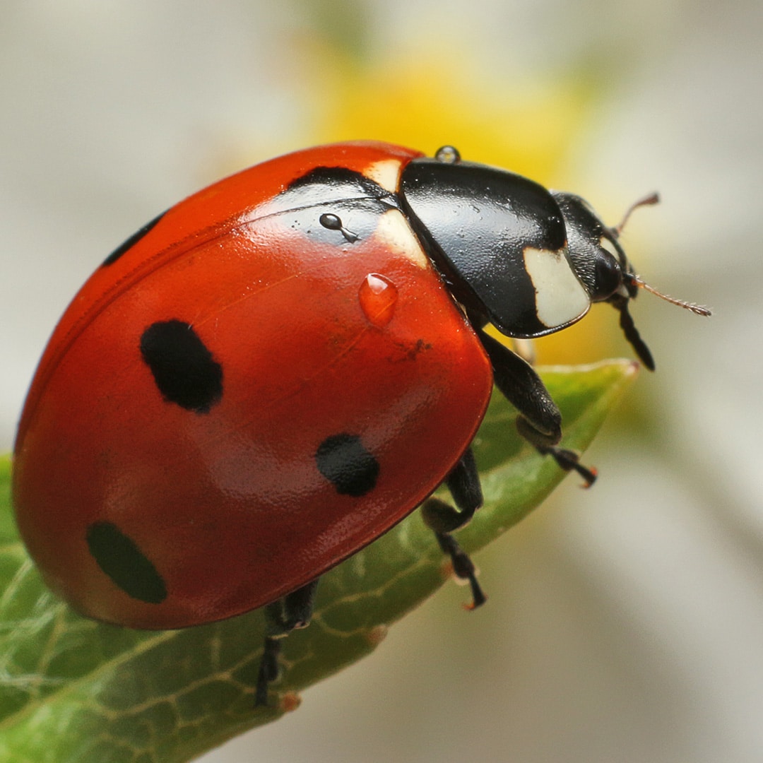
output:
[[[592,485],[596,472],[582,465],[575,451],[557,447],[562,439],[562,414],[535,369],[492,336],[483,331],[478,335],[493,366],[495,385],[520,412],[520,435],[542,455],[552,456],[565,472],[574,469],[587,486]]]

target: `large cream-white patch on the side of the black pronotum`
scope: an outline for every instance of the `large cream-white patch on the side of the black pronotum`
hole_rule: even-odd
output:
[[[535,287],[538,320],[549,329],[583,317],[591,298],[573,272],[564,250],[552,252],[527,246],[523,252],[527,275]]]

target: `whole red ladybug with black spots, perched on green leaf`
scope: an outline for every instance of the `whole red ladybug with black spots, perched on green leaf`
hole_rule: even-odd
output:
[[[133,628],[266,607],[258,704],[320,575],[417,506],[481,604],[452,533],[482,501],[470,443],[493,385],[533,446],[594,481],[485,327],[542,336],[609,302],[653,368],[619,233],[451,146],[320,146],[180,202],[89,278],[32,382],[12,489],[43,578]],[[430,497],[443,482],[452,505]]]

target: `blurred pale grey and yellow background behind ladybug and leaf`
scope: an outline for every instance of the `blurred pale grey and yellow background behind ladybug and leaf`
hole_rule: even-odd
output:
[[[565,481],[232,761],[763,759],[759,0],[0,2],[0,450],[56,319],[114,246],[208,182],[378,138],[588,198],[645,279],[658,365]],[[542,362],[629,356],[594,308]]]

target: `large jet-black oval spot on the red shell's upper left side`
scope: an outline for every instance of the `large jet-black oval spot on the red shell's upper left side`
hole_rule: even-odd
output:
[[[223,395],[223,369],[190,324],[164,320],[140,337],[140,354],[163,398],[206,414]]]

